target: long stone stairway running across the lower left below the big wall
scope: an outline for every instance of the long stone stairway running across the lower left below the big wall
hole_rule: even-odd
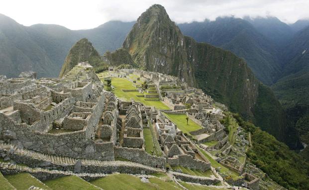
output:
[[[159,168],[153,168],[139,163],[126,161],[99,161],[88,159],[75,159],[57,155],[48,155],[31,150],[19,149],[14,145],[0,143],[0,153],[6,153],[7,156],[17,163],[26,164],[29,167],[41,167],[46,169],[57,169],[60,171],[74,171],[77,162],[81,162],[82,171],[87,173],[156,173],[163,172]],[[78,172],[79,173],[79,172]]]

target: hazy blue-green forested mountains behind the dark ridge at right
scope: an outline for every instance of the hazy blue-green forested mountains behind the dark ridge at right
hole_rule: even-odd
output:
[[[185,34],[199,41],[243,57],[255,76],[272,86],[287,112],[288,124],[296,126],[303,142],[309,143],[306,140],[309,139],[308,20],[287,25],[274,17],[224,17],[179,26]],[[272,57],[265,56],[270,53]],[[274,66],[276,70],[270,72]]]

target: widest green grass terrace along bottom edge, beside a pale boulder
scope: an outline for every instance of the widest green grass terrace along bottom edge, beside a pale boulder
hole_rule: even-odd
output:
[[[151,183],[142,183],[135,176],[113,174],[90,183],[104,190],[180,190],[174,183],[165,182],[158,178],[151,178],[149,181]]]

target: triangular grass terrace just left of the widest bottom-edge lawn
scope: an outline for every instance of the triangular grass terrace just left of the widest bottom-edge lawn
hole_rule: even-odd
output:
[[[53,190],[99,190],[77,176],[65,176],[44,183]]]

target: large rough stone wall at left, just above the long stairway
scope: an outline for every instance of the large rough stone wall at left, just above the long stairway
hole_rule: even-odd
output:
[[[32,126],[16,123],[10,117],[0,113],[0,139],[6,138],[3,136],[3,131],[7,131],[12,134],[10,143],[21,148],[78,159],[114,160],[112,142],[95,143],[90,139],[103,110],[104,97],[99,99],[95,108],[97,111],[92,114],[89,127],[60,134],[33,131]]]

